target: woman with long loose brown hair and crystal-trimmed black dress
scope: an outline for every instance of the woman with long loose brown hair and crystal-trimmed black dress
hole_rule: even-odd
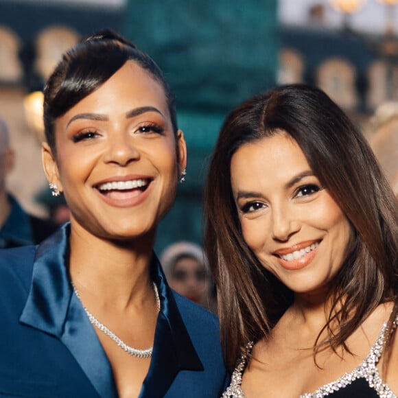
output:
[[[223,397],[398,394],[397,199],[323,91],[280,86],[226,117],[205,211]]]

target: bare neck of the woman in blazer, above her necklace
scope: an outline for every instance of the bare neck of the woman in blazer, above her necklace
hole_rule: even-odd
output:
[[[112,242],[71,224],[69,272],[79,291],[98,300],[126,307],[143,294],[153,294],[150,283],[152,237],[134,242]]]

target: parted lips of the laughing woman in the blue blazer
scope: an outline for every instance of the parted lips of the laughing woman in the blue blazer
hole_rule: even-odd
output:
[[[98,187],[106,183],[114,183],[117,181],[129,181],[129,180],[147,180],[148,185],[145,185],[145,189],[141,189],[140,187],[134,189],[126,189],[126,190],[110,190],[110,191],[100,191]],[[112,176],[110,178],[106,178],[104,180],[100,180],[93,188],[100,196],[100,198],[109,206],[112,207],[135,207],[145,201],[150,194],[152,188],[153,177],[138,175],[138,174],[128,174],[126,176]]]

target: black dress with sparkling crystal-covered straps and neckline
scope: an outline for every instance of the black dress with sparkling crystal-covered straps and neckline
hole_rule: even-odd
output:
[[[394,327],[397,327],[398,316],[395,318]],[[382,381],[377,369],[377,364],[382,356],[387,324],[385,323],[379,333],[375,344],[371,347],[364,361],[353,371],[345,373],[334,382],[325,384],[314,393],[300,395],[299,398],[322,398],[333,395],[333,398],[397,398],[386,383]],[[225,390],[222,398],[245,398],[242,391],[242,375],[247,365],[248,354],[253,349],[253,342],[246,346],[231,377],[231,384]]]

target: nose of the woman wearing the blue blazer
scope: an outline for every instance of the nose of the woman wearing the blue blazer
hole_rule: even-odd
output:
[[[127,132],[115,131],[109,134],[108,148],[104,156],[106,163],[116,163],[126,166],[132,161],[137,161],[140,152],[134,143],[134,138]]]

